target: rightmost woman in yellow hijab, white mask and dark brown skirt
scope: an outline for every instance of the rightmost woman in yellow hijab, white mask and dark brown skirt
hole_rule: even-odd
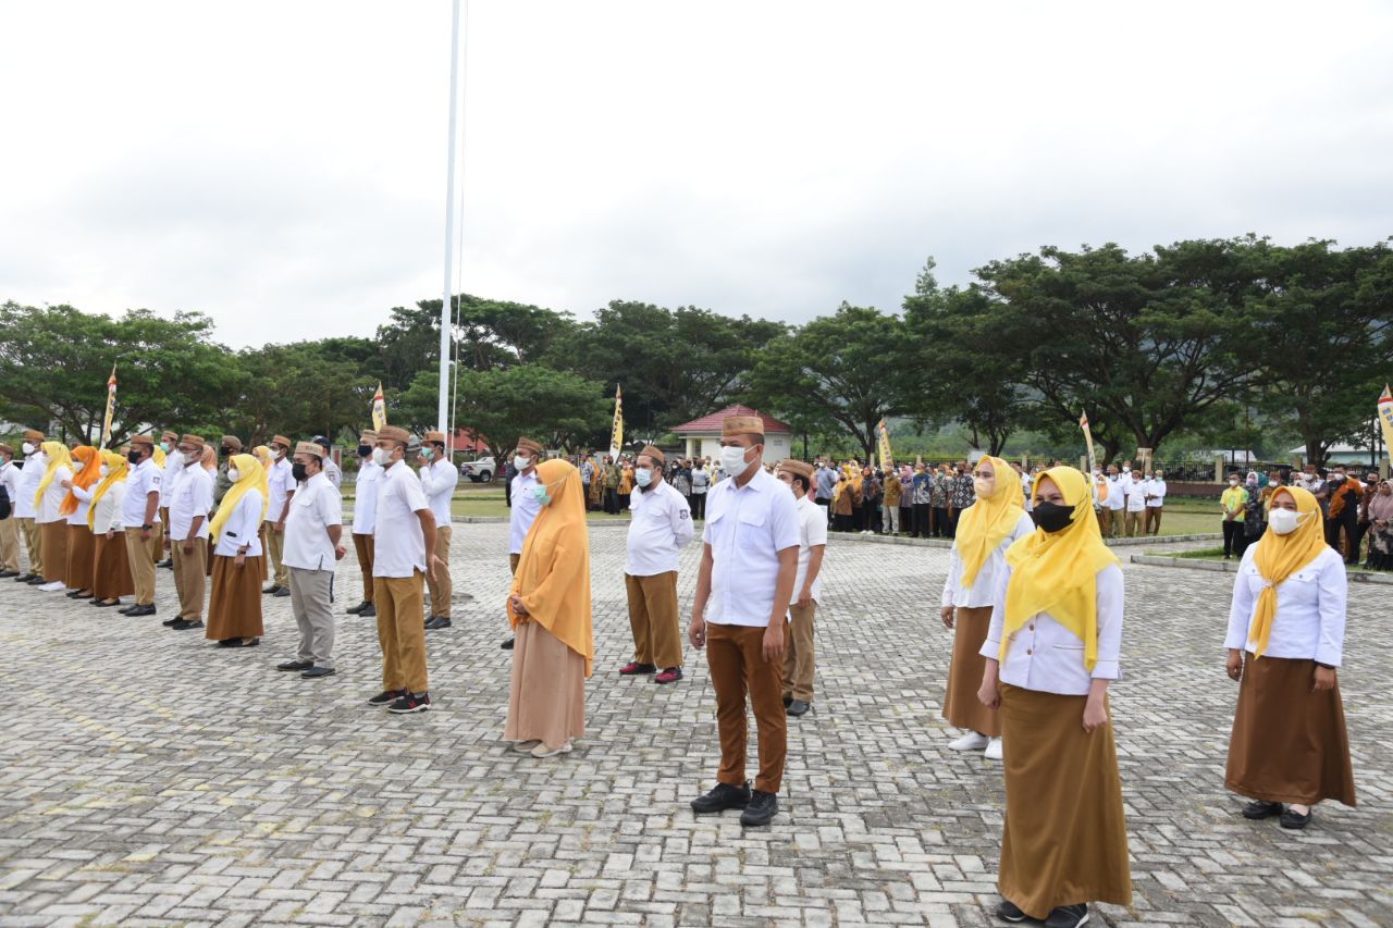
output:
[[[1354,805],[1336,680],[1347,588],[1315,496],[1279,488],[1268,531],[1238,564],[1224,641],[1229,677],[1240,681],[1224,786],[1255,800],[1244,818],[1277,815],[1283,828],[1301,829],[1321,800]]]

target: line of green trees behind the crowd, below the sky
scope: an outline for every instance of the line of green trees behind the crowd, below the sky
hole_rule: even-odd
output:
[[[932,258],[896,312],[841,304],[801,326],[712,309],[613,301],[591,319],[461,294],[453,311],[456,422],[495,453],[535,435],[606,447],[616,386],[627,433],[655,440],[729,403],[786,419],[815,450],[869,457],[897,429],[958,422],[1000,453],[1020,432],[1081,446],[1080,411],[1106,458],[1176,436],[1252,444],[1300,436],[1311,460],[1369,438],[1393,376],[1387,242],[1277,245],[1247,235],[1128,255],[1117,245],[992,261],[942,287]],[[125,429],[180,425],[260,442],[389,418],[435,425],[440,300],[397,307],[372,337],[231,350],[198,312],[113,319],[74,307],[0,307],[0,419],[96,440],[118,366]]]

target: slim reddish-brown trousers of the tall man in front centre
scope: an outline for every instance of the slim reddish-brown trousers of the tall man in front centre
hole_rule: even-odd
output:
[[[720,772],[716,779],[745,784],[745,694],[759,729],[755,789],[777,793],[788,755],[788,716],[783,705],[783,662],[765,660],[762,626],[706,626],[706,663],[716,690]]]

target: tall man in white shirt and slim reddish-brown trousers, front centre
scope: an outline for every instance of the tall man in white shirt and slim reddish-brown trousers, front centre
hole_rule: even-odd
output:
[[[692,811],[744,808],[742,825],[768,825],[779,812],[788,750],[783,706],[784,621],[798,574],[798,511],[793,495],[763,468],[765,424],[758,415],[722,422],[722,470],[706,500],[696,601],[687,635],[716,690],[720,772]],[[745,694],[759,727],[759,775],[745,779]]]

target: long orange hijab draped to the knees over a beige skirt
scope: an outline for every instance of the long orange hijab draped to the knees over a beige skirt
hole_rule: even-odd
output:
[[[528,619],[585,658],[585,676],[595,662],[591,630],[591,538],[585,528],[581,472],[561,458],[536,465],[536,479],[550,493],[522,543],[522,559],[510,595],[521,596]],[[508,606],[508,620],[518,617]]]

